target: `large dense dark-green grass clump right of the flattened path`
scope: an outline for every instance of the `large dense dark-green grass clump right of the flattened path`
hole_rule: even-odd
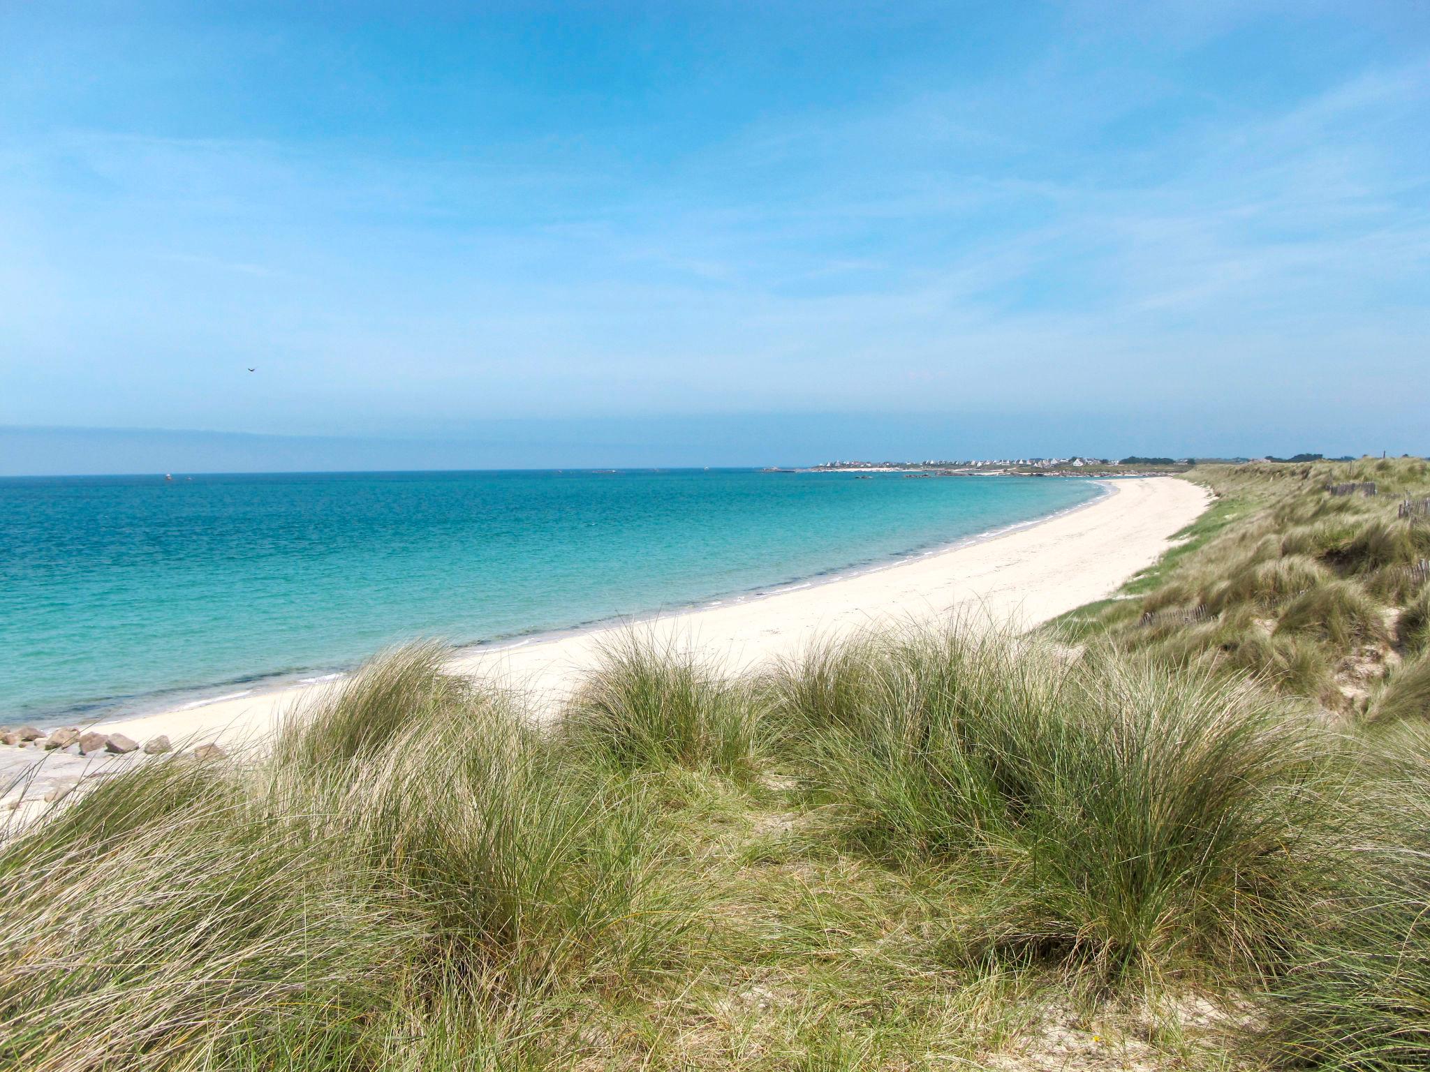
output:
[[[786,716],[849,838],[980,876],[975,930],[1098,978],[1254,963],[1333,753],[1264,693],[1145,659],[952,630],[786,672]],[[977,945],[977,942],[975,942]]]

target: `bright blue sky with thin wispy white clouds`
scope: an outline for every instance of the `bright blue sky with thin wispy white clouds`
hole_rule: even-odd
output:
[[[11,3],[0,425],[1421,452],[1427,131],[1413,0]]]

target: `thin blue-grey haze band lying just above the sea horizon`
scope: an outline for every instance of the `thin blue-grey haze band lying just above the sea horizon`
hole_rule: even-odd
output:
[[[1028,415],[726,415],[641,419],[519,419],[483,422],[466,436],[430,439],[293,435],[204,429],[0,425],[0,476],[83,477],[182,473],[419,473],[543,472],[592,469],[798,467],[829,460],[954,460],[1015,457],[1326,457],[1373,456],[1334,437],[1310,445],[1298,436],[1258,429],[1247,449],[1244,426],[1208,435],[1197,425],[1165,423],[1157,415],[1124,422],[1047,420]],[[1263,439],[1264,435],[1264,439]],[[1358,437],[1356,437],[1358,439]],[[1094,442],[1088,442],[1094,440]],[[1266,440],[1271,440],[1267,443]],[[1115,446],[1117,449],[1110,449]],[[1070,449],[1071,447],[1071,449]],[[1403,450],[1389,450],[1400,455]]]

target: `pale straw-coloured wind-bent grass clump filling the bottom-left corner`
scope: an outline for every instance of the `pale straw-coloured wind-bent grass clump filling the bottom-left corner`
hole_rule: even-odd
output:
[[[146,765],[0,850],[0,1068],[360,1048],[419,920],[332,839],[184,786],[187,763]]]

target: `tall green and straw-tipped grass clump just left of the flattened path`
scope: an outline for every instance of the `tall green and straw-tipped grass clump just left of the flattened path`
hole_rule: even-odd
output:
[[[522,992],[619,978],[681,936],[642,786],[566,762],[489,693],[425,716],[320,793],[420,905],[440,962]]]

